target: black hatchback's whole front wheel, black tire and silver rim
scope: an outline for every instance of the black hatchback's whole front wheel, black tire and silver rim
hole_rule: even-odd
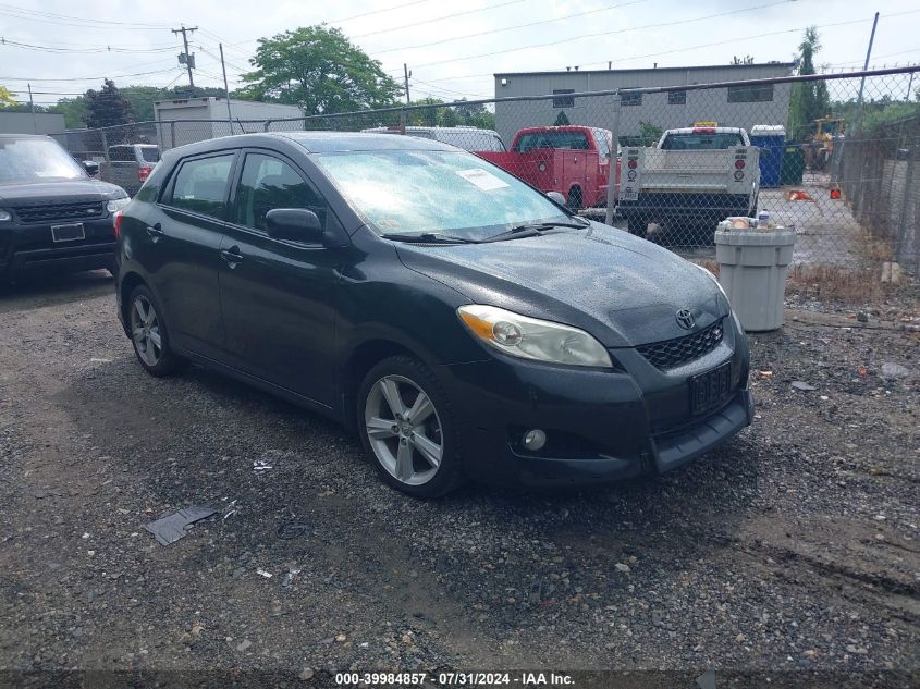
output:
[[[437,497],[463,482],[450,401],[421,361],[390,357],[368,371],[358,427],[380,476],[396,490]]]

